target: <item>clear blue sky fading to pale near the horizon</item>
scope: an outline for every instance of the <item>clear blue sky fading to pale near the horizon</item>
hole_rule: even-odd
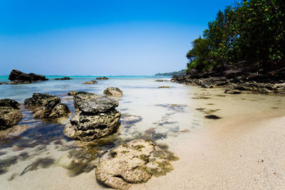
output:
[[[221,1],[0,0],[0,75],[153,75],[186,67]]]

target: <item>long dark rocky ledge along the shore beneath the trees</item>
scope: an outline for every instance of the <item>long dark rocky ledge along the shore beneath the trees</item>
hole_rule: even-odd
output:
[[[285,68],[266,73],[251,73],[250,70],[225,70],[199,73],[198,70],[187,71],[186,75],[173,76],[172,82],[199,85],[203,88],[226,88],[224,93],[260,93],[285,95]]]

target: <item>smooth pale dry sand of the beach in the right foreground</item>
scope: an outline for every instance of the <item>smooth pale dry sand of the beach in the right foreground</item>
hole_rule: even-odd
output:
[[[285,189],[285,110],[207,121],[169,143],[175,170],[131,189]]]

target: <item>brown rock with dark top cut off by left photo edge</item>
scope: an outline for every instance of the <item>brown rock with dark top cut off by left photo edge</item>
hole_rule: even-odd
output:
[[[0,130],[6,130],[18,124],[23,118],[19,102],[11,99],[0,100]]]

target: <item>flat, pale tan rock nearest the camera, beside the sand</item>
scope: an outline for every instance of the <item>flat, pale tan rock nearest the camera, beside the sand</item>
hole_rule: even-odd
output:
[[[100,159],[95,175],[114,189],[128,189],[131,184],[148,181],[152,175],[172,170],[170,154],[150,140],[135,139],[110,151],[110,158]]]

